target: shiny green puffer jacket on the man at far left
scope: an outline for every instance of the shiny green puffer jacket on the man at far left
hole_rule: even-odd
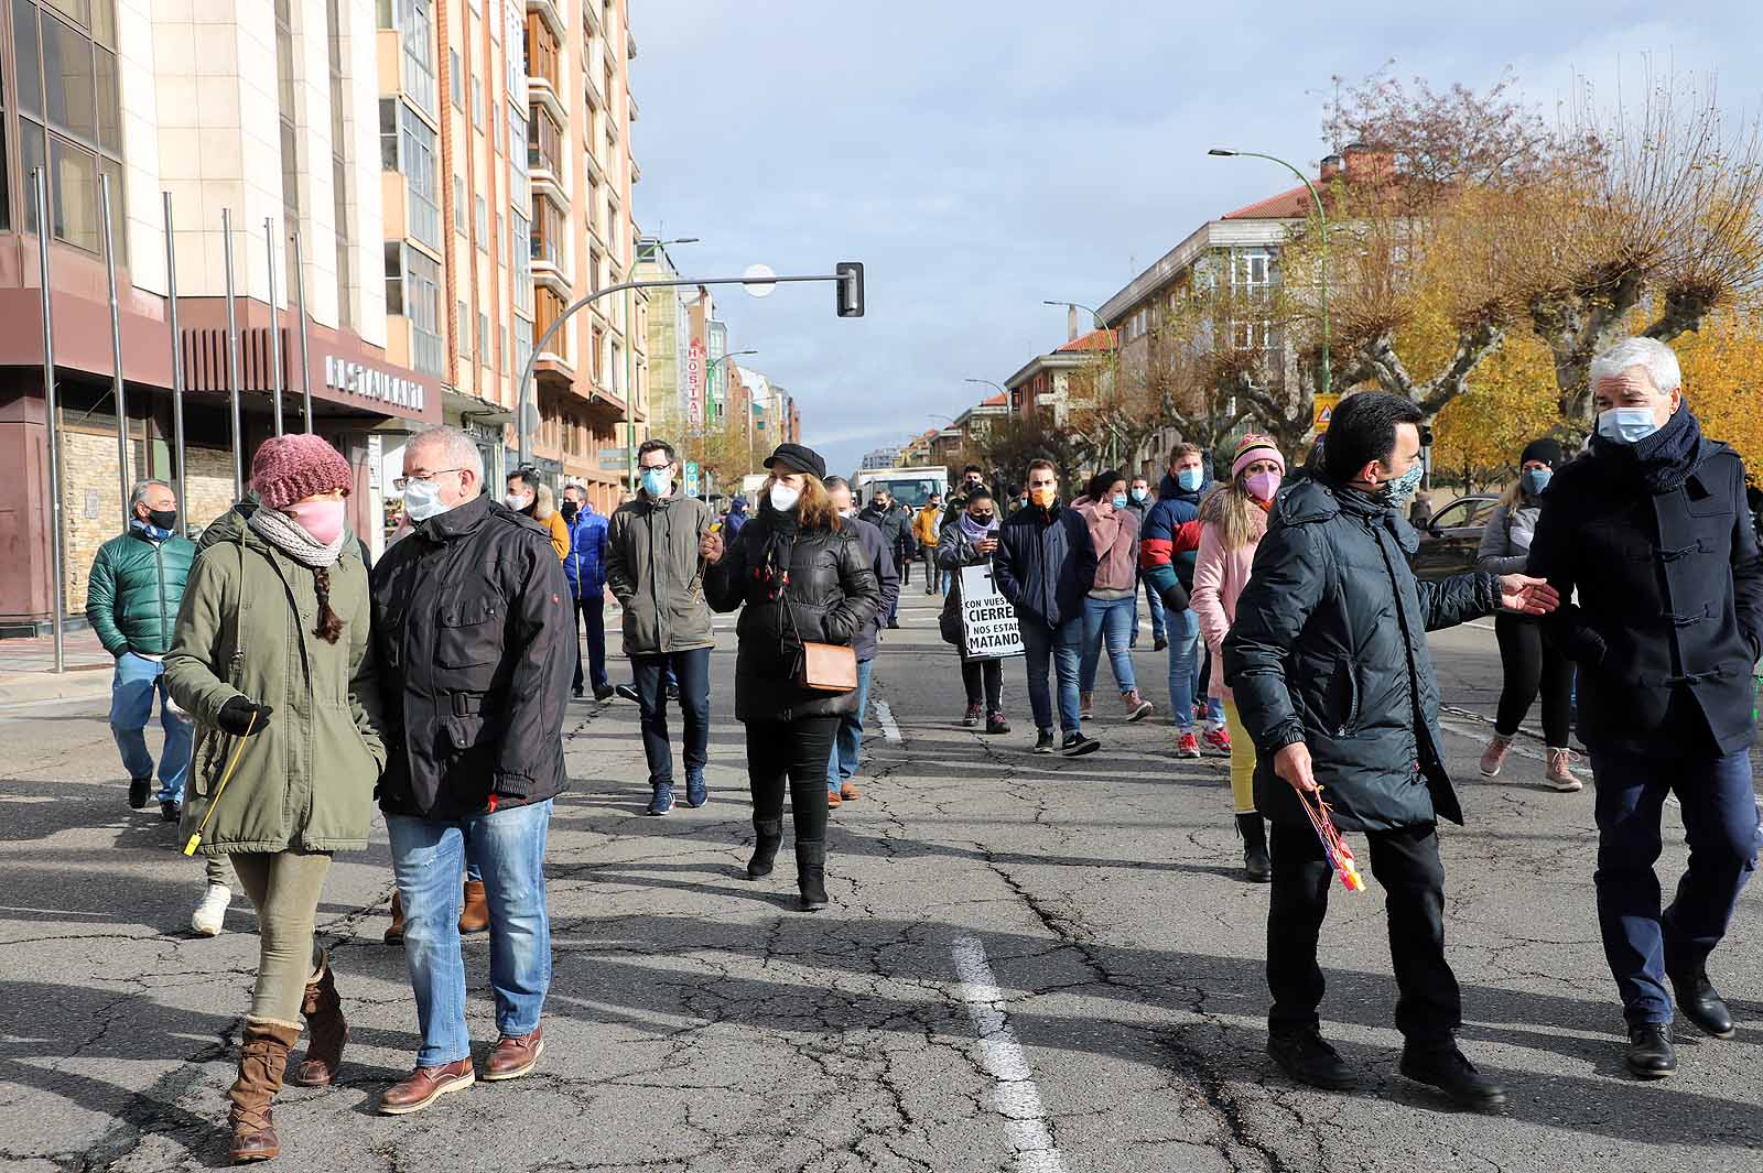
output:
[[[190,578],[196,542],[155,542],[139,527],[99,546],[86,579],[86,622],[111,655],[171,650],[171,627]]]

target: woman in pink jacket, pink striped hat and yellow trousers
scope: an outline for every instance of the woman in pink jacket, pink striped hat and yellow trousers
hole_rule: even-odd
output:
[[[1224,701],[1231,731],[1231,796],[1236,800],[1236,830],[1243,837],[1243,870],[1266,884],[1273,879],[1268,859],[1268,828],[1255,810],[1255,743],[1243,729],[1231,690],[1224,687],[1224,638],[1236,615],[1236,601],[1248,583],[1255,546],[1268,532],[1268,509],[1285,476],[1285,458],[1264,435],[1245,435],[1231,460],[1231,483],[1201,502],[1201,546],[1194,564],[1194,615],[1201,638],[1211,648],[1209,696]]]

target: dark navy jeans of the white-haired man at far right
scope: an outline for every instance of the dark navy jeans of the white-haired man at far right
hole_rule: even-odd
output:
[[[1634,757],[1592,750],[1597,789],[1597,926],[1631,1027],[1671,1022],[1666,974],[1694,974],[1726,933],[1758,865],[1751,756]],[[1682,803],[1689,868],[1659,911],[1659,815]]]

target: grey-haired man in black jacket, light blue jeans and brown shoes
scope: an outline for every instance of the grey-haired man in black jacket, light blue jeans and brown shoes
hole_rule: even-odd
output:
[[[423,1044],[416,1071],[381,1096],[388,1115],[421,1111],[472,1081],[458,948],[467,847],[490,907],[501,1032],[483,1078],[520,1078],[543,1051],[545,835],[566,786],[562,715],[575,671],[569,585],[550,534],[483,497],[471,437],[418,432],[397,488],[414,530],[374,571],[390,750],[379,805]]]

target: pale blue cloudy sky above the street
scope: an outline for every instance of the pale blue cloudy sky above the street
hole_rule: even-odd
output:
[[[1238,146],[1313,166],[1335,74],[1382,67],[1483,88],[1511,67],[1553,106],[1647,63],[1763,100],[1763,5],[848,4],[636,0],[631,67],[647,232],[688,275],[867,266],[867,317],[832,289],[719,298],[733,349],[797,395],[804,439],[848,472],[957,414],[1065,340],[1204,220],[1289,187]],[[1433,14],[1440,12],[1440,14]],[[1393,62],[1393,63],[1391,63]]]

